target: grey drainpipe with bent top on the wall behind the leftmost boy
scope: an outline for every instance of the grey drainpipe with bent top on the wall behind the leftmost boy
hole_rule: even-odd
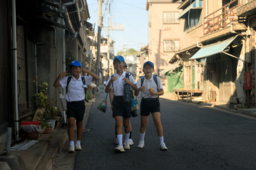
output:
[[[66,6],[70,6],[70,5],[73,5],[73,4],[75,4],[75,3],[76,3],[76,0],[72,0],[72,2],[62,4],[61,8],[62,8],[63,10],[65,10]],[[64,17],[66,17],[66,22],[68,22],[68,23],[65,23],[64,19],[61,20],[61,23],[62,23],[62,24],[65,23],[65,25],[66,25],[67,27],[70,26],[70,24],[71,24],[71,26],[72,26],[72,23],[71,23],[71,21],[70,21],[70,18],[68,17],[67,11],[66,11],[66,12],[62,12],[62,14],[63,14]],[[68,18],[67,18],[67,17],[68,17]],[[67,19],[68,19],[68,20],[67,20]],[[72,28],[73,28],[73,26],[72,26]],[[72,29],[71,29],[71,30],[72,30]],[[73,30],[74,30],[74,28],[73,28]],[[72,32],[72,31],[71,31],[71,34],[72,34],[72,33],[76,33],[76,32]],[[65,72],[65,71],[66,71],[66,58],[65,58],[65,54],[66,54],[66,45],[65,45],[65,43],[66,43],[66,39],[65,39],[65,29],[62,29],[62,72]],[[66,90],[65,90],[65,88],[62,89],[62,94],[63,94],[63,96],[66,95]],[[63,111],[62,117],[63,117],[63,123],[67,123],[67,121],[66,121],[66,111]]]

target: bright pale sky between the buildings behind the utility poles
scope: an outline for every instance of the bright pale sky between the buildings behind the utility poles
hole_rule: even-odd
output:
[[[111,4],[110,14],[106,4]],[[87,0],[90,23],[95,23],[97,32],[98,21],[98,0]],[[102,6],[103,26],[108,26],[108,17],[113,25],[125,25],[124,31],[110,31],[110,37],[115,41],[115,54],[124,48],[134,48],[140,51],[140,48],[148,44],[148,11],[146,0],[104,0]],[[114,17],[114,18],[113,18]],[[107,28],[102,28],[101,34],[107,38]]]

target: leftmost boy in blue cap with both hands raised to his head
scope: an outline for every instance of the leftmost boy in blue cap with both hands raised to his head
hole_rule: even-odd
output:
[[[61,85],[62,88],[67,87],[67,119],[68,119],[68,136],[70,140],[69,152],[74,152],[76,150],[81,150],[81,138],[83,134],[83,119],[84,119],[84,111],[85,111],[85,103],[84,103],[84,86],[90,85],[92,81],[99,79],[95,73],[91,72],[87,69],[81,68],[81,63],[79,61],[72,61],[68,66],[72,73],[72,77],[67,86],[67,80],[69,75],[67,71],[61,73],[57,79],[55,80],[53,86],[58,87]],[[81,76],[80,73],[88,73],[92,77]],[[61,77],[65,77],[61,79]],[[85,85],[82,82],[82,79],[85,80]],[[76,119],[76,127],[77,127],[77,141],[76,146],[74,146],[74,127],[75,127],[75,119]]]

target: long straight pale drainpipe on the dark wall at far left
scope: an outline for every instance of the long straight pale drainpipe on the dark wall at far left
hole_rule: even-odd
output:
[[[16,30],[16,4],[12,0],[12,51],[14,55],[14,84],[15,84],[15,139],[19,139],[19,111],[17,88],[17,30]]]

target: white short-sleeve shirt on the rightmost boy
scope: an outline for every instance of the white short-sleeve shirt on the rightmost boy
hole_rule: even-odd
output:
[[[143,98],[157,98],[158,97],[157,95],[152,96],[149,93],[149,90],[148,90],[149,88],[152,88],[154,91],[157,91],[157,85],[158,85],[159,90],[163,89],[163,85],[162,85],[162,82],[161,82],[160,78],[157,77],[157,84],[156,84],[156,82],[154,82],[153,75],[151,76],[151,78],[149,80],[147,80],[144,77],[143,85],[140,85],[140,83],[141,83],[141,78],[138,79],[138,81],[137,81],[137,88],[140,88],[141,86],[145,86],[146,91],[140,91],[141,96]]]

